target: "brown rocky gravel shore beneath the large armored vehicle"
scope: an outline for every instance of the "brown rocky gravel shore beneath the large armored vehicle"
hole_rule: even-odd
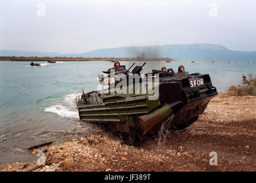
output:
[[[219,94],[195,123],[158,139],[130,146],[102,131],[34,149],[45,166],[15,162],[0,171],[256,171],[256,97]],[[210,165],[210,152],[218,165]]]

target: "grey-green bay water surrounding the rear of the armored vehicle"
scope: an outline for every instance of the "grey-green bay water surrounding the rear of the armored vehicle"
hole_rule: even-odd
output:
[[[0,164],[32,161],[26,150],[46,141],[66,141],[84,134],[99,132],[94,126],[81,124],[75,97],[82,93],[77,66],[84,92],[96,90],[97,75],[113,67],[111,62],[0,62]],[[129,68],[133,62],[121,62]],[[142,64],[142,62],[137,62]],[[177,61],[147,62],[143,73],[162,66],[177,71],[184,65],[189,73],[208,73],[218,92],[241,83],[242,74],[256,75],[256,63]]]

